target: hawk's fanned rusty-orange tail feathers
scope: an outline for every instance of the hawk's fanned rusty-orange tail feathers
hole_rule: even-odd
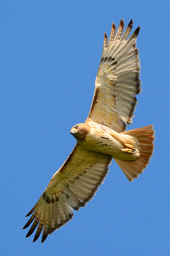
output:
[[[139,175],[149,164],[154,149],[153,142],[155,140],[155,131],[153,130],[153,125],[151,124],[142,128],[121,133],[135,137],[140,143],[140,157],[138,157],[136,160],[122,161],[114,157],[115,162],[122,169],[128,180],[133,181],[135,178],[139,177]]]

